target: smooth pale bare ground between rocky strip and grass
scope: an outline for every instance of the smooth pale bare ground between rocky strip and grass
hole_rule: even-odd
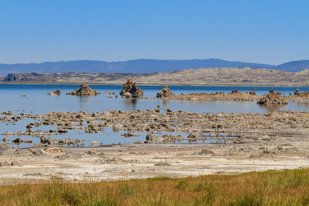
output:
[[[141,144],[62,149],[64,152],[43,152],[38,156],[28,149],[18,150],[20,155],[1,155],[1,162],[16,161],[19,165],[1,167],[0,184],[238,174],[309,167],[306,135],[277,137],[267,144]]]

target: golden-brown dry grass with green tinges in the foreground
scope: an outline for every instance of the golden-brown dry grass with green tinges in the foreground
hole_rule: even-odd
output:
[[[0,205],[309,205],[309,169],[0,187]]]

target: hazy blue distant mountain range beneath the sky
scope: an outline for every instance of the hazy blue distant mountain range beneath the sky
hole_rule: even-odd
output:
[[[119,62],[104,62],[98,60],[73,60],[60,62],[43,62],[31,64],[0,64],[0,75],[8,73],[63,73],[73,72],[96,72],[96,73],[154,73],[170,72],[181,69],[199,69],[213,67],[250,67],[251,69],[278,69],[283,71],[302,71],[309,68],[309,60],[287,62],[282,65],[265,65],[252,62],[234,62],[215,58],[205,60],[155,60],[137,59]]]

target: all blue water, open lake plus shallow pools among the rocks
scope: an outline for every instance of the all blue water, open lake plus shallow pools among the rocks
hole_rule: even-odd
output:
[[[187,111],[194,113],[219,113],[225,111],[227,113],[267,113],[274,110],[288,110],[288,111],[309,111],[309,102],[288,102],[288,105],[277,107],[266,107],[256,104],[256,102],[234,102],[234,101],[205,101],[205,100],[163,100],[163,99],[124,99],[115,98],[115,95],[105,95],[104,92],[111,91],[116,94],[122,89],[122,85],[89,85],[91,89],[99,91],[101,94],[91,97],[80,97],[74,95],[65,95],[68,91],[73,91],[79,88],[79,85],[67,84],[0,84],[0,111],[12,111],[15,114],[19,113],[32,113],[32,114],[45,114],[52,111],[62,112],[96,112],[106,110],[122,110],[122,111],[137,111],[154,109],[160,105],[163,110],[167,108],[172,111]],[[144,89],[144,97],[154,98],[158,91],[161,91],[163,86],[139,86]],[[49,96],[46,93],[60,89],[60,96]],[[288,95],[294,93],[296,89],[300,92],[309,91],[309,87],[193,87],[193,86],[169,86],[170,91],[179,95],[181,93],[215,93],[216,91],[225,91],[229,93],[233,89],[240,92],[253,91],[258,95],[268,93],[270,89],[281,91]],[[27,95],[21,97],[21,95]],[[113,98],[108,98],[111,96]],[[24,119],[23,121],[16,122],[16,125],[4,124],[0,122],[0,133],[6,131],[17,132],[18,130],[25,131],[25,126],[28,122],[34,122],[33,119]],[[49,130],[49,126],[40,128],[33,128],[34,130]],[[53,129],[56,129],[53,128]],[[133,144],[134,141],[145,141],[146,133],[138,133],[139,137],[126,138],[122,135],[125,132],[120,130],[119,133],[113,133],[111,128],[106,128],[103,133],[98,134],[85,134],[83,130],[69,130],[69,133],[63,135],[54,135],[54,138],[65,139],[72,137],[73,139],[86,139],[85,144],[90,141],[97,140],[102,144],[112,144],[121,142],[128,142]],[[163,135],[164,133],[161,133]],[[173,135],[187,134],[175,133]],[[5,136],[0,135],[0,139]],[[14,136],[9,136],[10,141],[15,139]],[[21,137],[21,139],[32,139],[33,144],[39,142],[36,137]],[[205,143],[209,143],[210,139],[205,139]],[[1,143],[1,141],[0,141]],[[183,141],[181,143],[188,143]],[[199,142],[201,143],[201,142]],[[21,144],[21,147],[29,147],[33,144]]]

